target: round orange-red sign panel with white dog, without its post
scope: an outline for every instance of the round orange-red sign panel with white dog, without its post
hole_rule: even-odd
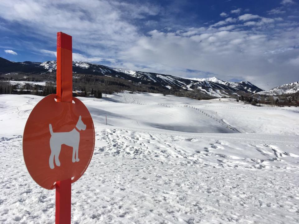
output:
[[[26,167],[37,184],[55,188],[55,182],[78,180],[93,156],[94,126],[86,106],[43,98],[31,111],[23,135]]]

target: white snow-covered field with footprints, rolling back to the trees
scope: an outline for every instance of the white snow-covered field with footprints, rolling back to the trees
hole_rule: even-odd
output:
[[[72,223],[299,223],[298,108],[128,92],[78,98],[96,144],[72,184]],[[41,99],[0,95],[0,223],[55,222],[55,190],[32,180],[22,155]]]

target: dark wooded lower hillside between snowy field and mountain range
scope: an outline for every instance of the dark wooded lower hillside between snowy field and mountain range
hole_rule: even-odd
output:
[[[15,84],[24,81],[23,85]],[[32,82],[32,83],[31,83]],[[34,82],[46,82],[45,85],[33,84]],[[85,96],[99,97],[102,93],[112,94],[114,92],[138,91],[161,93],[164,95],[175,95],[190,97],[197,100],[216,98],[205,93],[194,90],[188,91],[178,86],[171,89],[158,85],[146,85],[122,78],[99,76],[91,74],[73,74],[73,90],[85,93]],[[0,75],[0,94],[33,94],[47,96],[56,93],[56,73],[46,72],[41,74],[9,73]]]

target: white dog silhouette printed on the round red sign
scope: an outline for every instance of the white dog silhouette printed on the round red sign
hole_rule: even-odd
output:
[[[61,145],[67,145],[73,147],[73,157],[72,162],[79,162],[78,151],[80,142],[80,131],[86,129],[86,124],[83,123],[81,115],[79,116],[78,122],[73,130],[70,132],[53,132],[52,125],[49,124],[49,129],[51,133],[50,138],[50,148],[51,155],[49,158],[49,166],[54,169],[54,157],[56,166],[60,166],[59,154],[61,150]],[[76,154],[76,159],[75,159]]]

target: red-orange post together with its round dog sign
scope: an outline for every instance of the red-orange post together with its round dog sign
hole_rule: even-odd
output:
[[[72,37],[57,33],[57,92],[31,111],[23,134],[28,172],[45,189],[56,189],[55,224],[71,223],[71,184],[87,169],[95,133],[86,106],[72,96]]]

